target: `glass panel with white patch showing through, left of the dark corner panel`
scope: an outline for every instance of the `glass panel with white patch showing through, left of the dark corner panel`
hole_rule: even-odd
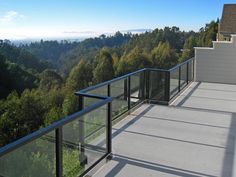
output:
[[[130,104],[131,107],[140,103],[144,98],[144,72],[130,76]]]

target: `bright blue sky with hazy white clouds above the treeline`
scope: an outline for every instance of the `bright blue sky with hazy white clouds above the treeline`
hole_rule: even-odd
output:
[[[178,26],[198,31],[236,0],[0,0],[0,39],[75,38]]]

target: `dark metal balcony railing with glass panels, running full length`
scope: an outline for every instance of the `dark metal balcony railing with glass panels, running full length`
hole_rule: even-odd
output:
[[[194,59],[145,68],[76,92],[79,111],[0,148],[0,176],[83,176],[112,156],[112,122],[143,102],[168,105],[194,77]]]

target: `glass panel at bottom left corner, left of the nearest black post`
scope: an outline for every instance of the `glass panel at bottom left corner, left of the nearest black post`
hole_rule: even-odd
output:
[[[0,157],[0,176],[3,177],[55,177],[55,132]]]

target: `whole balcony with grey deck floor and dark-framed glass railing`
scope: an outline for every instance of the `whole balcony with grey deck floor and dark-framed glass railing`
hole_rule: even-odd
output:
[[[78,112],[0,148],[0,176],[235,176],[236,86],[201,82],[200,54],[76,92]]]

